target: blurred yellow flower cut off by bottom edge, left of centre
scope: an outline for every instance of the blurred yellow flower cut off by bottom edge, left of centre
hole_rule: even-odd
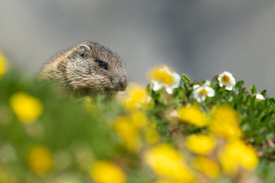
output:
[[[91,177],[98,183],[124,183],[124,172],[114,163],[108,161],[96,162],[90,171]]]

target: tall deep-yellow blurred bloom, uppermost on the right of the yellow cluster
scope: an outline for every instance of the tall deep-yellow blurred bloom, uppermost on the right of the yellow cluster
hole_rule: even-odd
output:
[[[213,123],[210,131],[224,138],[238,138],[241,136],[241,129],[238,124],[240,115],[230,106],[218,106],[213,111]]]

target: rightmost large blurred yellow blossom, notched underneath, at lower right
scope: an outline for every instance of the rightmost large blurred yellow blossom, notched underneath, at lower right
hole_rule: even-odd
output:
[[[219,158],[224,170],[230,174],[236,173],[238,165],[252,170],[259,162],[255,149],[241,140],[230,141],[221,151]]]

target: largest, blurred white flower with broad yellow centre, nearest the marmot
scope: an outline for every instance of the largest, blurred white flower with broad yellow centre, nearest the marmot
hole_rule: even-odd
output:
[[[167,66],[161,66],[152,70],[151,82],[153,84],[153,91],[165,88],[166,92],[172,94],[175,88],[180,86],[180,75],[172,72]]]

